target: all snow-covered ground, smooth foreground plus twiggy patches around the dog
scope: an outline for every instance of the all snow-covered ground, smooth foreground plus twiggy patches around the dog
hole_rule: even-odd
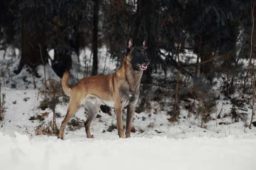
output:
[[[116,68],[116,63],[106,58],[105,51],[102,50],[101,59],[108,67],[104,69],[105,65],[99,65],[99,70],[108,73]],[[90,51],[85,51],[84,55],[89,56]],[[39,74],[43,75],[42,67],[38,69]],[[49,65],[46,74],[47,78],[60,80]],[[99,111],[99,117],[91,125],[93,139],[86,138],[84,127],[75,131],[66,128],[64,141],[56,136],[36,136],[35,128],[39,121],[29,118],[49,112],[45,120],[50,121],[52,113],[38,109],[41,100],[38,89],[42,86],[38,79],[35,82],[36,89],[33,89],[33,81],[33,77],[23,70],[12,77],[9,84],[2,84],[1,93],[6,94],[8,109],[3,127],[0,127],[1,170],[251,170],[255,167],[253,154],[256,151],[256,127],[244,128],[245,122],[234,123],[233,119],[226,117],[209,120],[204,123],[207,128],[201,128],[201,120],[193,114],[187,116],[186,110],[181,110],[179,122],[172,123],[168,121],[168,103],[171,103],[168,98],[161,101],[165,105],[151,102],[153,109],[135,113],[135,133],[131,133],[131,139],[119,139],[116,129],[108,131],[110,125],[116,124],[113,109],[111,115]],[[16,83],[16,88],[11,88],[12,83]],[[214,88],[221,97],[216,105],[216,114],[212,117],[220,113],[222,107],[221,117],[224,117],[225,113],[230,113],[232,105],[219,93],[218,85]],[[250,118],[250,105],[244,108]],[[67,106],[58,105],[57,111],[64,116]],[[125,125],[126,110],[123,114]],[[75,116],[85,120],[84,108],[81,107]],[[62,120],[57,119],[58,127]]]

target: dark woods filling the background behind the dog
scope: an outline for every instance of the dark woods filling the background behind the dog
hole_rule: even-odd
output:
[[[163,84],[170,85],[166,93],[175,99],[170,114],[177,117],[178,100],[184,95],[200,98],[202,109],[209,108],[206,96],[211,96],[215,78],[221,79],[225,95],[251,92],[243,62],[251,49],[250,5],[250,0],[2,0],[1,48],[21,50],[16,74],[25,65],[36,72],[42,60],[48,62],[47,51],[54,49],[52,68],[61,77],[72,66],[71,54],[79,56],[89,47],[90,74],[96,75],[101,74],[99,48],[106,45],[111,57],[122,63],[127,37],[141,42],[145,35],[151,64],[144,71],[143,87],[154,84],[154,74],[164,73]]]

